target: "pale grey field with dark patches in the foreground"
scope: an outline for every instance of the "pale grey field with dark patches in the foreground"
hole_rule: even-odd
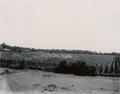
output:
[[[0,68],[0,94],[120,94],[120,78]]]

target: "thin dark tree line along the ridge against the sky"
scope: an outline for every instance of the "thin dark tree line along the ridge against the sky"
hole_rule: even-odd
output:
[[[19,46],[9,46],[5,43],[0,45],[0,51],[8,51],[8,50],[4,50],[5,48],[7,48],[13,52],[39,52],[39,51],[42,51],[42,52],[48,52],[48,53],[120,55],[120,53],[116,53],[116,52],[102,53],[102,52],[89,51],[89,50],[35,49],[35,48],[25,48],[25,47],[19,47]]]

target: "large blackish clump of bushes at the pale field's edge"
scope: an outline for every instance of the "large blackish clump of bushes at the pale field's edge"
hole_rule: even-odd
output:
[[[75,75],[96,75],[96,67],[88,66],[83,61],[77,61],[76,63],[72,63],[71,65],[67,64],[67,61],[61,61],[59,66],[55,69],[56,73],[64,73],[64,74],[75,74]]]

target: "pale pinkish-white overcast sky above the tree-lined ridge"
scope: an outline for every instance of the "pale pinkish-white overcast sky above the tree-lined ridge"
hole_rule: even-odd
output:
[[[120,0],[0,0],[0,43],[120,52]]]

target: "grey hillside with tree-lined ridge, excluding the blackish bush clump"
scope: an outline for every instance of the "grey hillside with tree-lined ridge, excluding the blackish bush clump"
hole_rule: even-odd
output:
[[[95,75],[120,76],[119,54],[72,53],[72,51],[60,53],[60,51],[33,50],[33,48],[12,47],[5,44],[2,44],[0,48],[1,67],[24,67],[51,71],[62,61],[66,61],[68,65],[82,61],[87,66],[95,67]]]

